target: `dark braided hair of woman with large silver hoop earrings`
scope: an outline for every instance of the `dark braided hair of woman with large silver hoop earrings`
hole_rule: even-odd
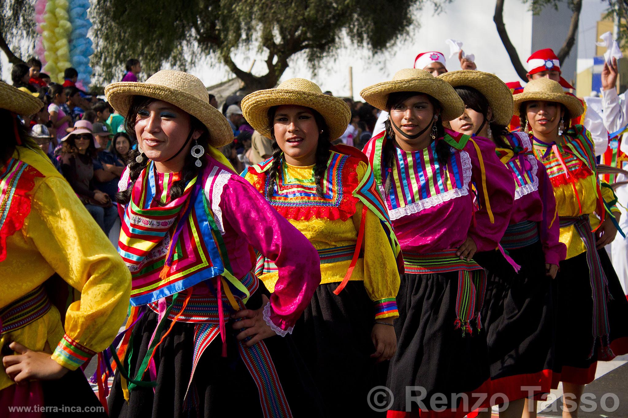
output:
[[[136,115],[141,108],[147,107],[153,102],[156,102],[157,99],[145,96],[134,96],[133,101],[131,102],[131,107],[129,108],[129,112],[124,119],[124,125],[126,127],[126,132],[131,137],[131,140],[136,143],[138,138],[135,135],[135,124],[136,124]],[[197,138],[198,145],[201,145],[204,149],[208,148],[209,144],[209,132],[207,127],[203,125],[197,118],[190,115],[190,135],[195,130],[202,131],[200,137]],[[138,179],[139,174],[142,172],[144,168],[148,166],[149,159],[144,155],[142,162],[137,162],[136,157],[140,155],[139,145],[136,149],[131,149],[126,155],[126,164],[129,167],[129,179],[131,180],[131,184]],[[195,157],[192,157],[190,152],[186,153],[185,160],[183,162],[183,170],[181,170],[181,180],[173,182],[170,188],[170,200],[177,199],[183,195],[183,191],[185,191],[185,185],[190,182],[194,177],[196,177],[202,170],[207,162],[205,159],[200,159],[202,165],[197,167],[195,163]],[[125,205],[129,203],[131,200],[131,189],[133,187],[129,187],[125,191],[118,192],[116,194],[117,202]]]

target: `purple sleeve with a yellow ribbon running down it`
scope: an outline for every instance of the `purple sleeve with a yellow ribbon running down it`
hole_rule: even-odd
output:
[[[477,251],[497,248],[510,221],[515,184],[506,166],[487,140],[470,138],[464,147],[471,158],[472,181],[478,191],[480,209],[469,228]]]

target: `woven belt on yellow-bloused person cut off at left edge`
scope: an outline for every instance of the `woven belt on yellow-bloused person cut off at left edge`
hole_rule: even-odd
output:
[[[0,310],[0,335],[26,327],[51,308],[48,294],[38,286]]]

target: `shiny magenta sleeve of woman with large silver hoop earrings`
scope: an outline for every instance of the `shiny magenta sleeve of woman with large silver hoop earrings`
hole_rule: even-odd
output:
[[[247,243],[275,260],[279,278],[270,298],[269,318],[276,327],[288,330],[320,283],[318,251],[242,177],[231,175],[220,197],[220,209]]]

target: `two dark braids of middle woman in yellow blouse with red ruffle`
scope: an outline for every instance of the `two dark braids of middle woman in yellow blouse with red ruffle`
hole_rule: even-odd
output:
[[[281,170],[281,164],[283,162],[283,151],[277,144],[277,139],[274,136],[274,115],[277,112],[279,106],[273,106],[268,109],[268,128],[271,131],[271,138],[273,139],[273,164],[268,170],[269,182],[266,187],[266,199],[270,200],[273,197],[274,185],[277,179],[277,174]],[[312,108],[308,108],[308,111],[314,115],[318,130],[323,132],[318,135],[318,144],[316,147],[315,165],[314,165],[314,183],[316,184],[316,192],[320,197],[324,197],[322,180],[327,170],[327,163],[329,160],[329,152],[332,146],[332,142],[329,138],[329,128],[325,118],[320,113]]]

